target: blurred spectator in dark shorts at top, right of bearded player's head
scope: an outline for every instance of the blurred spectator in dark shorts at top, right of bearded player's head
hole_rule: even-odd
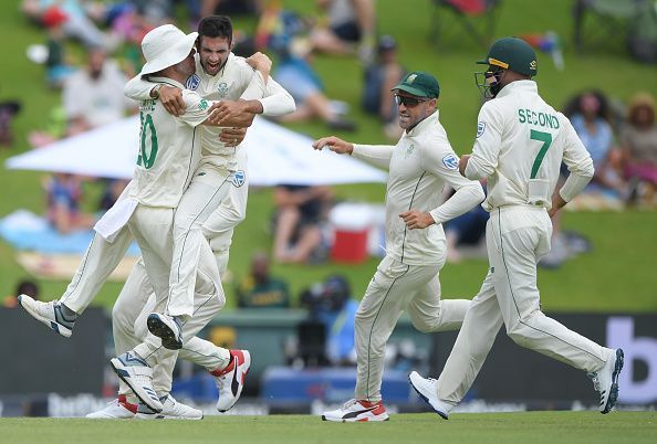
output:
[[[368,64],[376,44],[374,0],[317,0],[327,25],[312,33],[313,49],[328,54],[358,54]]]

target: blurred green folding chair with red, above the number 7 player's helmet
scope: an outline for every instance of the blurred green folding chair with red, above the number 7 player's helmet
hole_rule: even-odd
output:
[[[488,46],[492,40],[501,0],[434,0],[429,38],[438,42],[444,33],[444,15],[451,13],[477,43]]]

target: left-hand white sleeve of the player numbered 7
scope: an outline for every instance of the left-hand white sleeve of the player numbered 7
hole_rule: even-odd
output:
[[[487,179],[498,167],[503,121],[492,105],[492,102],[483,104],[477,118],[477,138],[466,167],[468,179]]]

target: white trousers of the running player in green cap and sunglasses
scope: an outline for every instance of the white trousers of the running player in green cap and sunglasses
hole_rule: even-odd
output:
[[[386,256],[378,265],[356,311],[355,399],[380,401],[386,342],[404,310],[423,332],[460,328],[470,302],[440,299],[438,273],[444,264],[445,260],[436,265],[406,265]]]

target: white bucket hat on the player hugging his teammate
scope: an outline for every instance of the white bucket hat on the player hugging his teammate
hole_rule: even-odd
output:
[[[142,40],[146,64],[139,75],[153,74],[180,63],[189,55],[198,32],[185,34],[173,24],[163,24],[148,32]]]

